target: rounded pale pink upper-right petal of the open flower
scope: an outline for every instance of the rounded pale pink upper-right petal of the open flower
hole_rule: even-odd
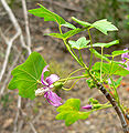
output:
[[[46,83],[49,83],[49,86],[58,80],[60,78],[56,74],[51,74],[45,79]]]

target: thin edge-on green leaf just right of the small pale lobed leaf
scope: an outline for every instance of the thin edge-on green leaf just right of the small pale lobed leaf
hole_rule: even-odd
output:
[[[118,44],[118,43],[119,43],[119,40],[115,40],[109,43],[95,43],[95,44],[93,44],[93,47],[109,48],[109,47],[111,47],[114,44]],[[87,47],[90,48],[90,45],[87,45]]]

